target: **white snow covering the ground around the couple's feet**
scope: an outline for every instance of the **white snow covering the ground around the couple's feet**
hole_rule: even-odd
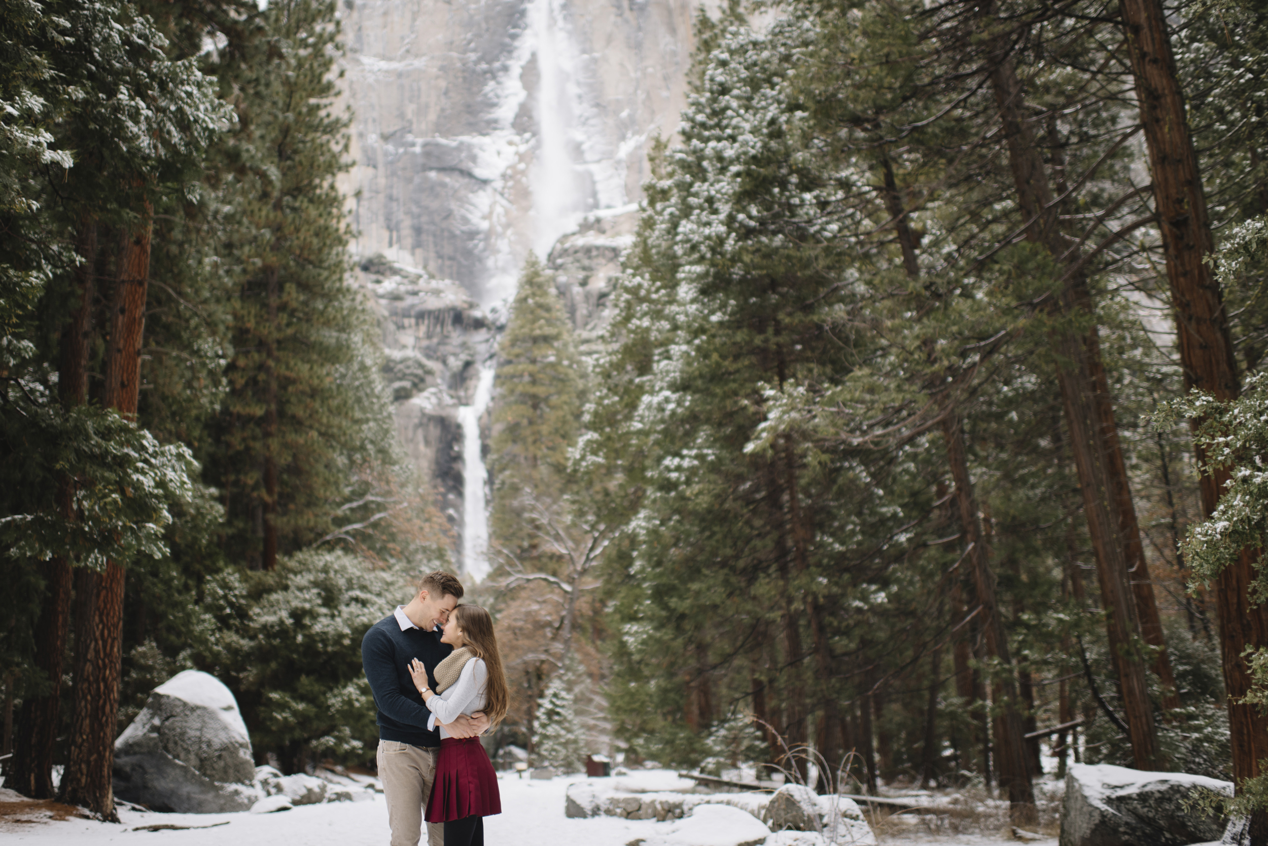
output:
[[[579,775],[550,780],[520,779],[514,773],[498,774],[502,789],[502,813],[484,819],[484,837],[489,846],[625,846],[633,840],[653,840],[666,835],[675,822],[652,819],[619,819],[593,817],[567,819],[564,792],[582,780]],[[359,779],[373,783],[372,779]],[[635,771],[615,776],[612,786],[623,790],[686,789],[691,783],[668,770]],[[19,797],[0,789],[0,841],[5,846],[385,846],[388,813],[383,794],[364,802],[333,802],[299,805],[278,813],[252,814],[165,814],[120,808],[122,823],[101,823],[82,818],[53,821],[47,803],[32,803],[36,819],[18,821],[14,809]],[[190,826],[184,830],[147,831],[152,826]],[[999,836],[936,835],[913,826],[886,826],[883,846],[998,846],[1009,842]],[[426,840],[424,840],[424,843]],[[1016,842],[1016,841],[1012,841]],[[1038,841],[1054,846],[1056,840]]]

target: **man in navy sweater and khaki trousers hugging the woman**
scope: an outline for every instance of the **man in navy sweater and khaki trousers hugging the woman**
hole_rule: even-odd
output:
[[[440,642],[440,628],[462,598],[458,579],[441,570],[429,572],[410,604],[397,605],[396,613],[375,623],[361,640],[361,666],[379,710],[375,760],[388,803],[392,846],[417,846],[440,750],[440,732],[427,731],[431,712],[413,686],[408,665],[412,659],[422,661],[435,688],[436,665],[453,651]],[[453,737],[473,737],[486,728],[488,719],[481,713],[445,726]],[[443,824],[427,823],[427,843],[444,846]]]

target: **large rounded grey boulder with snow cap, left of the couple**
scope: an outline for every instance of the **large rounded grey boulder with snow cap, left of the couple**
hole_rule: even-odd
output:
[[[262,798],[233,694],[185,670],[155,688],[114,741],[114,795],[152,811],[249,811]]]

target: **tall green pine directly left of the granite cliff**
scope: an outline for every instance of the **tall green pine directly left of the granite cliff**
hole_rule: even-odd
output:
[[[336,529],[332,514],[354,523],[380,510],[361,500],[393,458],[335,185],[347,144],[347,118],[331,106],[335,4],[271,3],[260,25],[224,56],[238,122],[222,152],[231,353],[207,464],[227,514],[227,557],[271,570]]]

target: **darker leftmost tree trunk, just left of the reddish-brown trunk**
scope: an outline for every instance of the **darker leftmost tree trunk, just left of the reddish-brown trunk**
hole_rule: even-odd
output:
[[[62,409],[82,405],[87,399],[87,351],[93,331],[93,291],[96,270],[96,220],[85,217],[76,237],[80,266],[75,271],[77,305],[62,327],[58,362],[58,398]],[[61,474],[57,480],[57,508],[62,519],[75,519],[75,480]],[[44,597],[36,622],[34,664],[48,681],[43,695],[23,699],[18,733],[5,784],[36,799],[51,799],[53,786],[53,747],[61,721],[62,660],[71,621],[71,562],[55,556],[42,565]]]

